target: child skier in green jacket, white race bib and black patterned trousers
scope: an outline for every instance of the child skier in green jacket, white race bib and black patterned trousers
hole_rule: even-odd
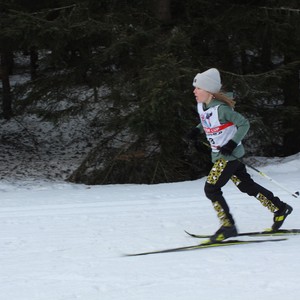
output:
[[[221,190],[230,179],[241,192],[254,196],[274,214],[272,230],[277,231],[293,208],[254,182],[239,160],[245,154],[242,140],[250,127],[248,120],[234,111],[232,99],[220,93],[222,85],[217,69],[198,73],[193,86],[201,122],[188,133],[188,137],[196,140],[199,133],[205,133],[210,144],[213,167],[204,191],[221,223],[219,230],[210,237],[211,242],[237,235],[234,219]]]

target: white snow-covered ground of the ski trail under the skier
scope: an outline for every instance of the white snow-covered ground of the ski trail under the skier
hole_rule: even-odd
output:
[[[268,159],[260,169],[292,192],[299,190],[300,153]],[[294,207],[283,227],[300,228],[300,199],[251,173]],[[184,230],[214,232],[219,224],[204,196],[204,181],[85,186],[2,179],[0,299],[299,299],[300,236],[277,243],[123,256],[197,244]],[[272,224],[272,214],[254,198],[232,184],[224,193],[240,231]]]

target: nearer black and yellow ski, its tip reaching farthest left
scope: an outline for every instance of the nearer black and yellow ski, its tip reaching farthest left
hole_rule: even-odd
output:
[[[280,241],[285,241],[285,240],[287,240],[287,239],[281,238],[281,239],[265,239],[265,240],[249,240],[249,241],[229,240],[229,241],[223,241],[223,242],[219,242],[219,243],[205,242],[205,243],[201,243],[199,245],[191,245],[191,246],[185,246],[185,247],[169,248],[169,249],[164,249],[164,250],[155,250],[155,251],[148,251],[148,252],[141,252],[141,253],[125,254],[125,256],[141,256],[141,255],[149,255],[149,254],[170,253],[170,252],[217,248],[217,247],[225,247],[225,246],[244,245],[244,244],[280,242]]]

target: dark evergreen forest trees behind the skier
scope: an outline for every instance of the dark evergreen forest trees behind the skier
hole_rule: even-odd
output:
[[[298,0],[1,0],[0,24],[0,118],[89,116],[99,133],[70,181],[205,175],[186,133],[192,80],[211,67],[251,123],[247,155],[300,151]],[[12,84],[16,72],[28,79]]]

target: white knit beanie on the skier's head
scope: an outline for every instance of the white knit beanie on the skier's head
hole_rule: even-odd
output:
[[[212,94],[220,92],[222,84],[219,71],[212,68],[198,73],[194,78],[193,86]]]

